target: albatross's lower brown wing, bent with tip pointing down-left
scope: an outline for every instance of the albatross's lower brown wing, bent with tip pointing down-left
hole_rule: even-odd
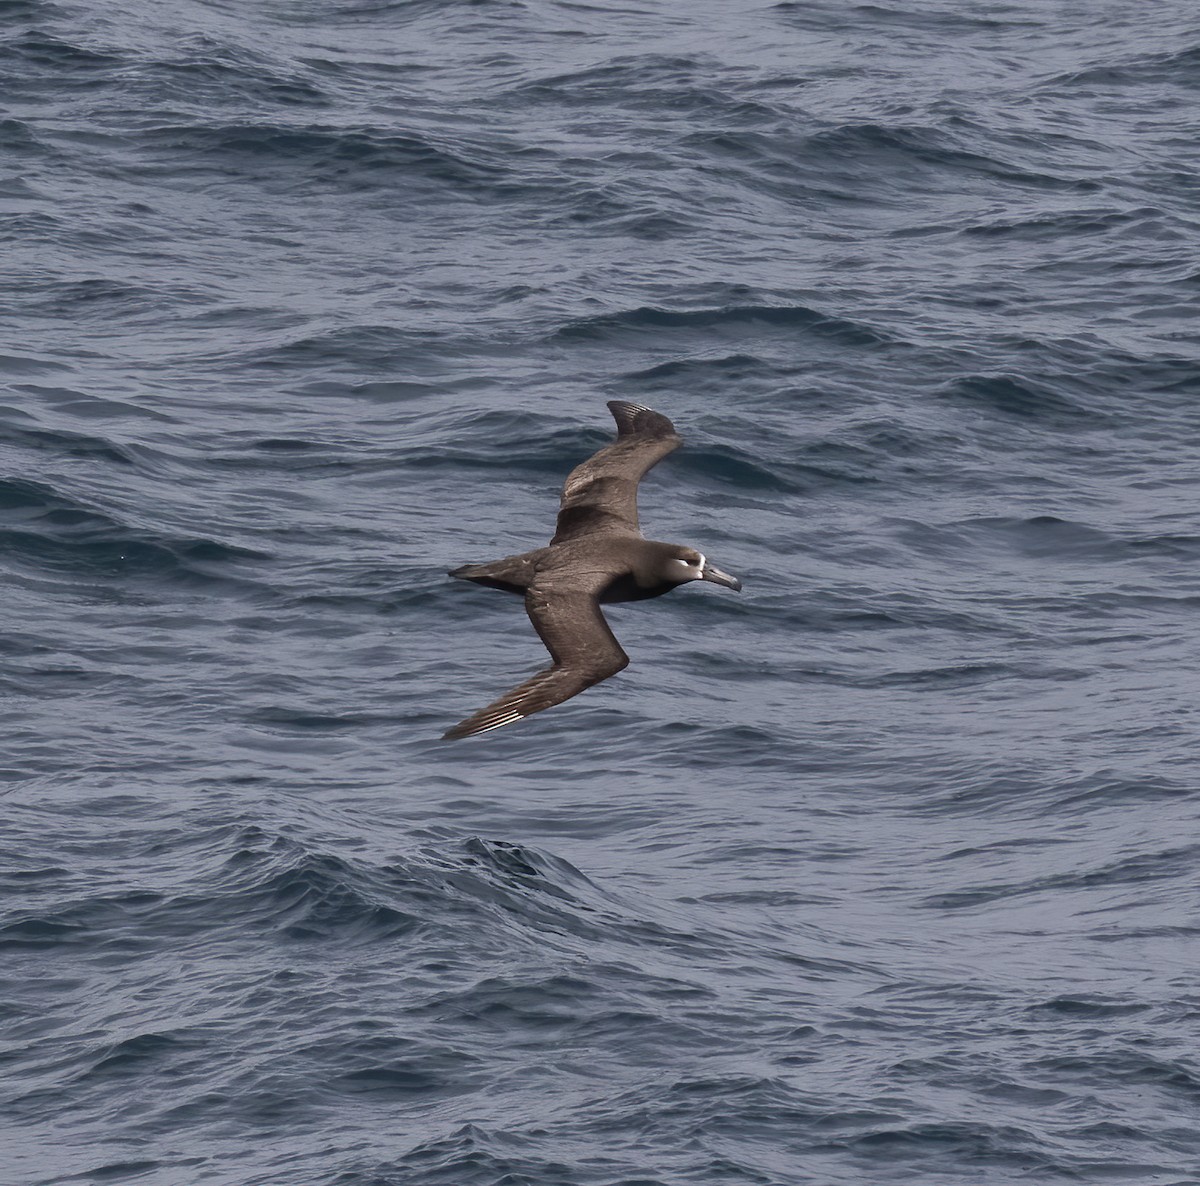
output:
[[[560,705],[586,688],[614,676],[629,664],[590,589],[556,589],[552,580],[534,585],[526,610],[554,663],[505,693],[486,708],[443,733],[456,741],[486,733]]]

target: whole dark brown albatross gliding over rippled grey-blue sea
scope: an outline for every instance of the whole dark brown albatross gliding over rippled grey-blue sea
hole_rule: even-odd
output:
[[[688,581],[731,589],[742,582],[714,568],[694,547],[643,539],[637,484],[679,448],[674,425],[658,412],[614,400],[617,439],[576,466],[563,485],[558,525],[548,547],[491,564],[464,564],[450,575],[521,593],[551,666],[480,708],[443,739],[486,733],[560,705],[629,665],[600,606],[661,597]]]

